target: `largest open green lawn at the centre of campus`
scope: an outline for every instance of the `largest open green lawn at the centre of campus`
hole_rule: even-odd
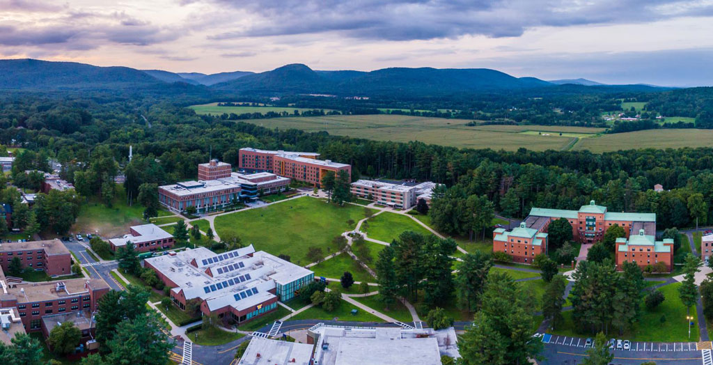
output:
[[[215,217],[217,234],[237,234],[245,245],[272,255],[289,255],[292,263],[309,264],[307,248],[322,249],[324,256],[337,247],[332,240],[344,231],[353,230],[364,218],[364,207],[347,204],[342,207],[311,197],[243,210]],[[352,225],[347,224],[354,221]]]

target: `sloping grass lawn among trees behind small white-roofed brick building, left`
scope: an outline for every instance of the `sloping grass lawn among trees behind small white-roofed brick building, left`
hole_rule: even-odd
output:
[[[98,231],[103,237],[117,237],[128,233],[128,227],[141,225],[143,220],[143,206],[138,202],[133,205],[126,204],[126,192],[122,185],[116,185],[114,201],[107,207],[98,198],[92,198],[81,205],[77,221],[71,232]],[[170,215],[165,210],[158,210],[158,216]]]

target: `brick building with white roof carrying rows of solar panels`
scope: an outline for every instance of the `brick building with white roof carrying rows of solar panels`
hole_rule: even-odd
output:
[[[180,307],[194,299],[205,314],[242,323],[277,309],[314,280],[314,273],[252,245],[215,254],[205,247],[145,259],[145,267],[171,287]]]

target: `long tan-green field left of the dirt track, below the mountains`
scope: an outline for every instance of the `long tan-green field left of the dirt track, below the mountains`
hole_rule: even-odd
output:
[[[493,150],[563,150],[578,138],[601,133],[603,128],[560,127],[550,125],[481,125],[469,127],[471,120],[424,118],[409,115],[331,115],[324,117],[272,118],[244,120],[267,128],[326,130],[332,135],[348,135],[372,140],[448,145],[460,148]],[[542,132],[542,135],[538,134]],[[559,133],[563,135],[559,135]]]

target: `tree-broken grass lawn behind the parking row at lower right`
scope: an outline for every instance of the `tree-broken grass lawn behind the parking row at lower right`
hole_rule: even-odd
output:
[[[642,316],[635,325],[634,329],[625,332],[622,339],[630,339],[631,341],[661,341],[661,342],[682,342],[682,341],[698,341],[698,325],[696,319],[696,309],[691,308],[691,315],[694,317],[694,324],[691,326],[691,338],[688,338],[688,326],[686,322],[686,307],[683,306],[681,299],[678,297],[678,288],[680,283],[669,284],[665,287],[660,287],[658,290],[665,296],[665,300],[659,307],[648,310],[642,300]],[[564,323],[552,333],[564,336],[583,336],[593,335],[587,333],[579,333],[575,331],[575,324],[572,319],[573,311],[563,312]],[[661,322],[665,316],[665,322]],[[610,334],[618,333],[617,331]]]

